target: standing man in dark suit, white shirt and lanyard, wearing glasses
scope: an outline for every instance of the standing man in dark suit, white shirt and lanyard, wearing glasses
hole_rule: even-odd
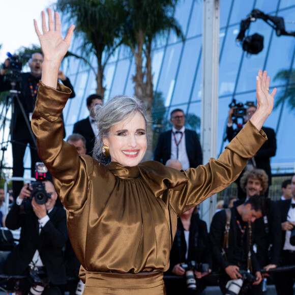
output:
[[[184,170],[196,168],[203,161],[197,133],[184,127],[185,114],[181,109],[171,111],[170,122],[172,130],[160,134],[154,160],[165,165],[169,159],[178,159]]]

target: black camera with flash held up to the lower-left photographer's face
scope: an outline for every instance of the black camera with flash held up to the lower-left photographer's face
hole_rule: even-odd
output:
[[[51,198],[51,195],[48,194],[45,190],[45,184],[42,182],[46,178],[47,168],[42,162],[36,163],[36,182],[32,182],[32,193],[28,200],[35,198],[37,204],[45,204],[48,198]]]

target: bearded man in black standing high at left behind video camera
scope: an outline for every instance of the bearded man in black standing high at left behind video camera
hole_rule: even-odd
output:
[[[13,61],[10,62],[10,59]],[[28,61],[28,66],[31,69],[30,73],[17,73],[13,71],[13,78],[7,75],[7,72],[14,67],[17,56],[7,58],[0,70],[0,92],[12,90],[14,87],[12,80],[16,83],[15,89],[19,91],[19,102],[16,96],[13,96],[14,111],[11,122],[11,142],[12,142],[12,157],[13,157],[13,176],[23,176],[23,157],[27,144],[30,145],[31,152],[31,171],[34,177],[34,165],[40,161],[36,150],[36,139],[31,128],[31,117],[35,108],[36,97],[38,93],[39,80],[42,74],[43,55],[40,53],[32,54]],[[20,66],[21,68],[21,66]],[[20,71],[20,70],[19,70]],[[17,79],[15,79],[18,77]],[[75,97],[73,86],[65,74],[58,72],[58,79],[72,91],[70,98]],[[65,130],[64,130],[65,133]],[[13,182],[14,197],[18,196],[22,184]]]

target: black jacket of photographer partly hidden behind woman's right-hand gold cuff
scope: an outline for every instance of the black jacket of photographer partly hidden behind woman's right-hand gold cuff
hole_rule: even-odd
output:
[[[270,158],[276,155],[277,151],[277,140],[274,129],[268,127],[261,128],[268,137],[268,140],[260,147],[254,160],[256,168],[263,169],[269,176],[269,186],[272,185],[272,171]],[[226,129],[227,139],[230,141],[233,137],[233,128],[227,127]]]

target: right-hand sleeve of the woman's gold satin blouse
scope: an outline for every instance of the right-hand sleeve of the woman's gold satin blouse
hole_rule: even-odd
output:
[[[175,188],[170,196],[170,204],[178,216],[228,187],[266,139],[264,132],[259,132],[249,121],[217,160],[211,158],[206,165],[184,171],[187,183],[179,190]]]

